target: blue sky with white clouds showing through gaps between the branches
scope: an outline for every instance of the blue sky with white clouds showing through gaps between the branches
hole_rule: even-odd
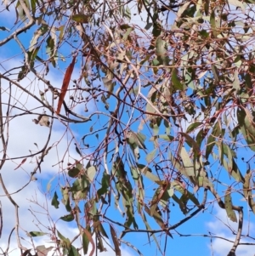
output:
[[[6,15],[6,16],[5,15],[6,14],[3,14],[2,18],[0,17],[0,24],[1,26],[11,27],[12,20],[15,19],[13,10],[10,11],[9,15]],[[25,43],[26,47],[28,47],[30,44],[29,41],[32,36],[32,33],[33,31],[28,31],[26,32],[26,34],[19,36],[20,41],[26,42]],[[7,34],[8,34],[7,31],[0,31],[0,40],[6,37]],[[65,51],[68,51],[68,47],[64,49],[64,52]],[[17,65],[17,63],[20,63],[20,65],[22,63],[23,57],[22,57],[22,54],[20,53],[20,48],[17,46],[17,43],[14,43],[14,40],[9,42],[6,46],[0,48],[0,56],[1,56],[0,63],[2,64],[2,66],[0,66],[1,72],[3,72],[3,69],[5,68],[9,69],[10,67]],[[54,81],[55,87],[57,88],[61,87],[65,68],[70,64],[70,62],[71,60],[66,58],[65,63],[62,63],[61,61],[59,61],[59,68],[53,69],[52,66],[50,66],[50,71],[48,73],[47,79],[50,81]],[[77,69],[75,69],[73,77],[76,77],[77,75],[78,75]],[[35,90],[36,92],[38,88],[40,89],[43,88],[42,83],[33,81],[34,77],[32,77],[31,75],[29,75],[28,77],[30,79],[24,79],[24,81],[22,81],[21,84],[23,84],[24,86],[29,86],[31,90]],[[4,84],[4,87],[8,88],[8,84]],[[20,92],[18,90],[17,94],[19,93]],[[20,95],[20,102],[26,102],[26,96],[22,94],[19,94],[19,95]],[[28,102],[27,105],[30,108],[34,106],[33,100],[29,99],[27,100],[27,102]],[[97,104],[97,106],[99,107],[99,111],[103,111],[105,108],[105,106],[100,102]],[[94,104],[88,105],[88,114],[92,113],[94,110],[95,110]],[[84,114],[82,107],[78,111]],[[94,117],[94,119],[95,118],[96,117]],[[104,124],[104,122],[102,124]],[[136,122],[135,124],[133,124],[132,128],[135,130],[138,126],[139,126],[139,122]],[[79,139],[81,139],[83,134],[86,134],[89,132],[90,127],[91,125],[88,123],[71,125],[73,134],[75,135],[78,141]],[[100,128],[100,127],[94,127],[94,129],[96,128]],[[52,143],[54,144],[56,141],[59,141],[59,144],[58,145],[54,144],[56,145],[54,147],[54,150],[51,151],[49,156],[45,158],[45,161],[42,164],[42,174],[37,175],[37,179],[38,179],[37,182],[32,183],[30,187],[27,187],[24,191],[22,191],[23,194],[14,195],[14,197],[16,197],[17,200],[20,202],[20,208],[21,208],[20,219],[22,220],[20,221],[20,223],[22,224],[22,226],[24,226],[24,229],[27,231],[37,230],[37,225],[31,225],[27,221],[27,219],[34,219],[31,213],[27,211],[27,208],[31,206],[32,208],[35,208],[37,209],[37,211],[42,213],[40,214],[40,219],[41,219],[41,216],[44,216],[42,217],[42,219],[45,218],[45,214],[46,214],[45,209],[42,210],[42,208],[39,207],[37,203],[34,203],[33,201],[41,202],[42,205],[44,206],[46,205],[46,202],[48,202],[48,208],[49,208],[48,211],[52,214],[54,220],[62,216],[61,214],[63,215],[66,214],[65,208],[63,206],[61,206],[60,209],[55,210],[50,205],[49,195],[47,193],[43,195],[43,193],[45,193],[44,191],[45,187],[46,185],[48,185],[48,181],[52,179],[52,177],[54,177],[54,181],[52,182],[52,185],[51,185],[51,192],[55,190],[57,185],[59,184],[63,185],[62,177],[61,175],[59,175],[59,168],[57,168],[55,165],[58,162],[58,160],[60,160],[61,157],[65,155],[65,148],[67,145],[67,141],[68,139],[71,139],[70,133],[68,134],[68,136],[64,136],[63,138],[61,137],[64,131],[65,131],[65,127],[61,125],[61,123],[56,121],[54,123]],[[24,119],[23,118],[14,119],[14,124],[10,128],[10,132],[11,132],[10,146],[9,146],[10,156],[20,156],[20,152],[23,152],[23,151],[26,151],[26,153],[29,153],[29,150],[36,151],[37,149],[34,143],[37,143],[39,147],[42,146],[43,139],[47,138],[47,135],[48,135],[47,128],[36,126],[33,122],[31,122],[31,117],[26,117]],[[149,143],[150,132],[148,131],[148,129],[145,128],[145,126],[142,132],[147,137],[146,146],[148,147],[148,150],[150,152],[153,150],[152,143],[151,142]],[[99,136],[102,136],[102,134],[104,134],[104,132],[99,134]],[[94,137],[93,139],[93,137],[91,137],[91,139],[88,139],[86,143],[88,143],[89,145],[93,145],[94,143],[96,143],[96,138]],[[77,152],[75,151],[73,141],[71,142],[71,147],[69,150],[72,158],[74,159],[79,158],[79,156],[77,155]],[[84,153],[89,154],[89,151],[88,152],[84,151]],[[241,157],[244,157],[246,160],[251,156],[252,156],[252,152],[247,152],[242,150],[238,152],[238,159],[239,159],[238,161],[239,162],[242,161]],[[70,161],[71,157],[69,157],[69,159],[67,159],[66,157],[65,163],[67,161]],[[144,159],[144,152],[141,152],[141,159]],[[8,162],[8,164],[3,169],[3,178],[6,180],[8,184],[9,191],[17,190],[17,185],[16,183],[14,183],[14,177],[15,177],[15,180],[19,180],[18,185],[20,187],[26,184],[26,180],[29,178],[29,174],[32,170],[32,165],[30,165],[29,162],[27,161],[26,164],[21,169],[14,171],[14,168],[17,166],[18,163],[19,161]],[[141,160],[140,163],[145,163],[145,161]],[[65,164],[63,164],[63,167],[65,168]],[[213,168],[212,169],[213,172],[220,174],[221,177],[222,175],[224,176],[224,180],[226,183],[229,182],[229,175],[226,173],[225,170],[221,170],[217,164],[214,165],[212,168]],[[243,163],[243,168],[244,168],[244,171],[242,171],[242,174],[244,175],[246,172],[245,163]],[[126,170],[128,170],[128,168]],[[145,185],[145,190],[149,191],[147,194],[148,198],[146,199],[150,201],[151,199],[150,196],[152,196],[152,193],[150,192],[151,186],[154,186],[156,188],[156,185],[153,185],[149,180],[146,180],[146,178],[144,178],[144,185]],[[42,193],[38,192],[37,191],[38,189],[41,190]],[[221,191],[221,196],[224,195],[225,190],[226,190],[226,187],[224,186],[219,188],[219,191]],[[3,195],[3,191],[1,191],[1,195]],[[35,198],[37,198],[37,200],[35,200]],[[249,217],[248,216],[249,209],[247,208],[246,202],[241,202],[241,197],[238,197],[238,196],[235,196],[233,198],[233,201],[237,205],[242,204],[244,206],[245,218],[247,221]],[[13,212],[13,210],[11,208],[11,205],[9,205],[9,202],[6,200],[6,198],[3,198],[2,205],[3,205],[3,213],[4,213],[3,220],[6,221],[5,222],[6,224],[13,225],[12,223],[13,219],[11,219],[11,214],[10,214]],[[116,221],[123,221],[121,214],[116,210],[111,209],[107,214],[109,215],[109,217],[114,216],[114,219],[116,219]],[[171,206],[170,215],[171,215],[170,217],[171,225],[177,223],[180,219],[184,218],[184,214],[180,212],[178,205],[176,203],[175,203],[175,206],[173,205]],[[138,216],[138,214],[136,214],[136,216]],[[254,227],[252,224],[254,222],[254,217],[253,216],[250,216],[250,217],[251,217],[250,230],[252,232],[254,230]],[[188,255],[196,255],[197,251],[199,250],[199,253],[201,255],[210,255],[212,254],[212,249],[213,249],[214,255],[216,256],[226,255],[226,253],[229,251],[229,248],[231,247],[231,244],[229,244],[229,242],[225,242],[219,239],[213,239],[212,243],[210,243],[209,238],[199,236],[202,234],[208,235],[208,230],[211,230],[211,232],[215,235],[224,236],[233,240],[234,236],[230,232],[229,228],[225,225],[222,225],[220,220],[236,228],[236,225],[234,223],[231,223],[227,219],[225,211],[219,209],[217,206],[217,203],[214,202],[208,206],[207,211],[205,211],[204,213],[198,213],[197,216],[195,216],[186,224],[178,228],[178,232],[181,235],[194,234],[195,236],[188,236],[188,237],[178,236],[178,234],[176,234],[173,231],[173,240],[172,239],[167,240],[167,253],[188,256]],[[37,223],[37,221],[35,221],[35,223]],[[150,223],[152,228],[159,229],[158,225],[154,223],[153,219],[151,219]],[[75,225],[73,225],[72,223],[70,225],[68,224],[68,229],[66,229],[66,224],[67,223],[63,223],[63,221],[58,220],[56,226],[57,228],[59,228],[59,230],[61,230],[64,236],[70,236],[72,238],[72,236],[75,236],[75,234],[77,234],[77,229],[75,228]],[[2,240],[5,242],[7,241],[9,226],[12,226],[12,225],[3,226]],[[138,225],[139,227],[143,226],[141,221],[138,221]],[[109,225],[105,224],[104,226],[105,226],[105,230],[107,230],[109,233],[109,227],[108,227]],[[248,222],[245,223],[245,229],[248,229]],[[24,232],[24,235],[25,233],[26,232]],[[254,235],[255,234],[252,234],[252,236]],[[156,245],[153,242],[152,237],[150,239],[151,240],[150,244],[148,244],[147,236],[140,233],[127,234],[127,236],[124,236],[124,239],[132,242],[133,245],[139,247],[139,249],[144,255],[156,255],[156,253],[158,253],[156,251]],[[50,245],[49,243],[45,242],[43,236],[40,237],[40,239],[38,240],[39,240],[38,243],[41,243],[41,244],[45,243],[46,245]],[[165,235],[162,235],[161,239],[159,240],[161,241],[161,246],[163,247],[165,242]],[[5,242],[3,242],[3,244]],[[0,244],[1,243],[2,242],[0,242]],[[123,248],[124,248],[125,255],[136,255],[136,253],[133,252],[132,249],[127,248],[127,246],[124,246]],[[254,247],[253,247],[253,250],[254,250]],[[244,249],[240,247],[238,249],[238,252],[240,253],[238,255],[249,255],[249,253],[250,254],[252,253],[252,247],[245,247]],[[17,251],[14,251],[14,253],[17,253]]]

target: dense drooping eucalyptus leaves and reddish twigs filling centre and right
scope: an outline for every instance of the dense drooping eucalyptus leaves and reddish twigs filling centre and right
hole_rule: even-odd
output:
[[[232,188],[255,213],[251,185],[255,151],[254,3],[17,1],[17,20],[28,20],[19,33],[37,24],[17,81],[33,72],[48,87],[48,93],[40,92],[41,100],[37,100],[53,118],[66,125],[91,123],[77,148],[82,159],[71,168],[66,166],[65,185],[59,188],[67,211],[60,219],[77,223],[83,253],[88,253],[89,242],[95,247],[94,234],[99,250],[105,250],[102,237],[109,239],[106,223],[110,224],[116,255],[121,255],[119,242],[128,232],[141,229],[140,223],[163,253],[155,233],[173,237],[170,230],[210,203],[207,191],[232,221],[238,221],[235,212],[242,216],[241,207],[232,203]],[[132,4],[133,12],[147,15],[144,28],[133,24]],[[176,18],[169,27],[173,15]],[[72,55],[64,57],[70,50],[67,44]],[[62,88],[54,88],[43,76],[70,57]],[[72,77],[77,60],[82,63],[78,78]],[[36,64],[43,66],[41,73]],[[71,81],[75,89],[66,103]],[[85,100],[84,92],[88,94]],[[45,100],[46,93],[58,100],[56,110]],[[92,101],[102,111],[89,117],[74,111],[77,105]],[[35,122],[51,126],[47,116]],[[97,145],[84,168],[82,148],[88,148],[95,138]],[[244,148],[251,154],[246,174],[242,174],[243,162],[238,159]],[[223,187],[217,168],[213,168],[215,163],[229,174],[224,180],[224,202],[215,189]],[[150,190],[144,189],[147,185]],[[55,208],[59,208],[58,193],[54,191],[52,199]],[[112,216],[113,198],[116,211],[125,216],[122,223]],[[175,224],[169,220],[174,203],[183,213],[183,219]],[[120,236],[115,229],[121,230]],[[59,232],[56,236],[64,254],[78,255],[68,238]],[[240,238],[241,234],[236,241]]]

